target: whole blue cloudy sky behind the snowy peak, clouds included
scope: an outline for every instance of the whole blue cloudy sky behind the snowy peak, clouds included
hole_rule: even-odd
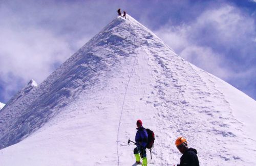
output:
[[[256,99],[256,1],[0,1],[0,102],[41,83],[121,8],[191,63]]]

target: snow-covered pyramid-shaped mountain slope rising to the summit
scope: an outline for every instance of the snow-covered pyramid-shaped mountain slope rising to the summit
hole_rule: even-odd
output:
[[[139,118],[156,134],[148,165],[177,164],[181,135],[201,165],[255,165],[255,110],[134,18],[117,17],[3,108],[0,165],[132,165],[127,140]]]

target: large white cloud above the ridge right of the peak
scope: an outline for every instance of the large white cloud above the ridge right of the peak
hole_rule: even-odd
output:
[[[250,82],[256,77],[254,25],[238,8],[225,5],[204,11],[189,24],[167,23],[156,33],[183,58],[241,89],[254,86]],[[255,94],[255,88],[242,90]]]

